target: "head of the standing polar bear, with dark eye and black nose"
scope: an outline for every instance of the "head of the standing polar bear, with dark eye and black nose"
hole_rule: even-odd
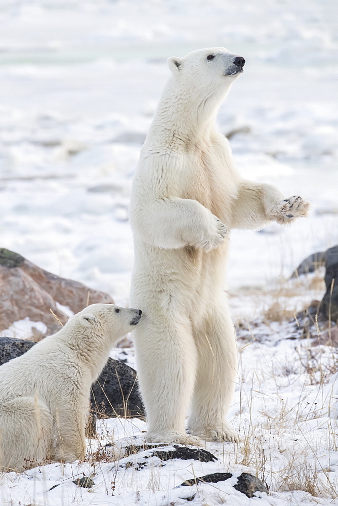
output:
[[[189,81],[194,88],[213,90],[229,88],[242,72],[245,60],[225,48],[193,51],[184,58],[172,56],[167,60],[177,81]]]

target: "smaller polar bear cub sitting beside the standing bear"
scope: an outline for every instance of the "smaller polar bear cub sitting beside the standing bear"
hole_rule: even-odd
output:
[[[141,313],[92,304],[0,367],[0,470],[22,472],[85,456],[91,385]]]

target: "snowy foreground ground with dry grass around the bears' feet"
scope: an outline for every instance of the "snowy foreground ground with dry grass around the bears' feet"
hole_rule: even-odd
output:
[[[207,443],[218,460],[125,456],[121,446],[144,442],[144,421],[110,418],[98,422],[99,441],[88,441],[86,462],[54,463],[17,475],[0,474],[0,504],[19,506],[310,506],[338,504],[338,423],[334,378],[338,355],[311,340],[294,340],[290,322],[252,322],[239,331],[240,367],[230,419],[241,441]],[[133,349],[115,350],[134,363]],[[337,401],[336,401],[337,402]],[[105,447],[107,443],[116,446]],[[168,448],[166,448],[168,449]],[[227,481],[182,487],[194,477],[231,472]],[[248,499],[232,485],[242,473],[260,477],[270,495]],[[77,487],[82,476],[91,489]],[[57,486],[56,486],[57,485]],[[56,487],[55,487],[56,486]],[[52,487],[55,487],[51,489]],[[189,501],[187,500],[189,499]],[[20,502],[21,501],[21,502]]]

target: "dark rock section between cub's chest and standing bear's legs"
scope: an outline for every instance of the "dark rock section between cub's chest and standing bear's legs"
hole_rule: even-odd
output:
[[[145,417],[137,372],[112,358],[108,358],[98,380],[92,385],[91,402],[98,418]]]

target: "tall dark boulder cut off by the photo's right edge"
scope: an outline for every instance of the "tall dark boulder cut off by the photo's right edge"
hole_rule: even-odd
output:
[[[320,305],[320,309],[328,320],[338,320],[338,246],[333,246],[326,251],[326,293]]]

